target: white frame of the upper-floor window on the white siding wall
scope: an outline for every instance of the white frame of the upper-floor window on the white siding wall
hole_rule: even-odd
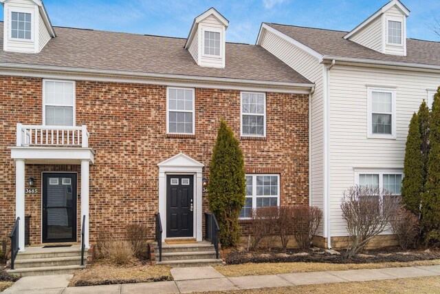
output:
[[[391,134],[373,134],[373,92],[391,93]],[[367,138],[396,139],[396,90],[386,87],[367,87],[366,108]]]

